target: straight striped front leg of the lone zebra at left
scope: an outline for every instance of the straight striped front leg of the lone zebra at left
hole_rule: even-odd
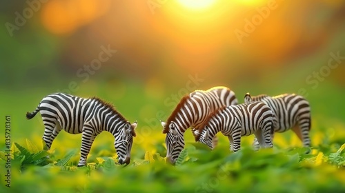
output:
[[[95,141],[96,136],[92,134],[91,131],[83,130],[81,136],[81,148],[80,148],[80,159],[78,167],[86,165],[86,159],[88,158],[88,153],[90,152],[93,141]]]

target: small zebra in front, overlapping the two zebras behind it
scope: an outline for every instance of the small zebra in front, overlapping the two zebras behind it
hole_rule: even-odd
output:
[[[213,149],[212,139],[218,132],[228,136],[233,152],[240,149],[241,136],[250,134],[255,134],[262,148],[272,148],[273,112],[262,102],[219,108],[208,116],[204,127],[199,128],[197,141]]]

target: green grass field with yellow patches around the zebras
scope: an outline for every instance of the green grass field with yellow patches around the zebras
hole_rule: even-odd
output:
[[[11,116],[11,181],[6,187],[6,142],[1,140],[0,192],[344,192],[345,191],[345,123],[342,90],[323,82],[316,90],[308,90],[313,124],[311,153],[293,132],[276,134],[272,150],[251,150],[253,136],[242,138],[242,150],[231,153],[225,136],[210,151],[206,145],[195,143],[190,130],[186,131],[186,147],[172,166],[165,163],[165,135],[159,119],[171,112],[164,100],[171,89],[162,93],[147,92],[150,87],[140,83],[124,83],[120,92],[110,90],[110,84],[92,88],[81,85],[79,96],[96,90],[96,95],[113,103],[129,121],[138,121],[137,137],[132,146],[130,165],[117,164],[114,138],[103,132],[95,139],[88,156],[87,167],[77,167],[81,135],[61,132],[49,152],[43,151],[43,123],[37,114],[26,120],[50,89],[13,90],[3,96],[5,112]],[[264,88],[264,86],[261,88]],[[254,92],[259,92],[255,88]],[[239,102],[248,90],[246,85],[233,88]],[[268,90],[268,88],[267,88]],[[150,90],[152,91],[152,90]],[[171,91],[171,92],[170,92]],[[264,91],[266,92],[266,91]],[[279,94],[282,90],[275,90]],[[335,96],[323,102],[323,93]],[[259,93],[257,93],[259,94]],[[22,97],[25,96],[25,97]],[[141,96],[138,99],[138,96]],[[12,105],[17,101],[17,105]],[[128,105],[130,104],[130,105]],[[3,129],[3,133],[5,129]],[[1,135],[3,136],[3,135]],[[17,143],[17,145],[14,145]],[[50,159],[45,156],[49,154]]]

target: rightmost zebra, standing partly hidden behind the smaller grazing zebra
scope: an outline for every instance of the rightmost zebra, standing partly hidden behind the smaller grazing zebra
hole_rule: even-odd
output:
[[[262,101],[273,111],[274,132],[285,132],[291,128],[305,147],[311,145],[311,139],[309,138],[311,107],[303,96],[296,94],[282,94],[273,97],[265,94],[250,96],[247,93],[244,96],[244,102],[250,103],[251,101]],[[257,139],[253,144],[257,148]]]

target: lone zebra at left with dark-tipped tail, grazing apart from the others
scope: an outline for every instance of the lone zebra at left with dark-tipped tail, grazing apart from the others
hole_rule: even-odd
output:
[[[55,93],[45,96],[34,112],[27,112],[26,118],[32,119],[41,113],[44,123],[43,141],[49,150],[52,141],[61,130],[70,134],[82,134],[81,156],[78,166],[86,165],[95,137],[107,131],[115,137],[115,149],[120,164],[130,163],[132,136],[136,136],[137,121],[132,125],[119,114],[112,105],[93,97],[83,99],[70,94]]]

